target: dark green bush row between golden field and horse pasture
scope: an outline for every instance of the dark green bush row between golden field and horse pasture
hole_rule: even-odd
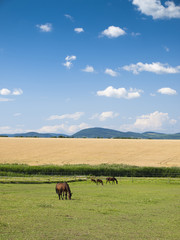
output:
[[[121,176],[121,177],[180,177],[177,167],[136,167],[127,165],[46,165],[28,166],[19,164],[0,164],[0,175],[93,175],[93,176]]]

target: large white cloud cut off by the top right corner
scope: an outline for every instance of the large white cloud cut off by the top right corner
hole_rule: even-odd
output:
[[[166,1],[164,6],[160,0],[133,0],[132,3],[141,13],[153,19],[180,18],[180,6],[176,6],[173,1]]]

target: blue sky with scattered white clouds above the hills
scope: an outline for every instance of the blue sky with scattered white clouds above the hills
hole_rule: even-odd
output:
[[[0,134],[180,132],[180,1],[0,0]]]

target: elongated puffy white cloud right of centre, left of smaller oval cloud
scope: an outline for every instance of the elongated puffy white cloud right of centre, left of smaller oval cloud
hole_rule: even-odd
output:
[[[130,90],[127,91],[125,88],[116,89],[113,88],[112,86],[109,86],[105,90],[97,91],[97,95],[105,97],[132,99],[140,97],[142,92],[143,91],[139,89],[130,88]]]

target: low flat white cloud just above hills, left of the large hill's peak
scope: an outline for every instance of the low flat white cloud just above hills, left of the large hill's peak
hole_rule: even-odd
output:
[[[87,123],[81,123],[78,125],[53,125],[53,126],[43,126],[42,128],[38,129],[37,131],[40,133],[61,133],[62,131],[68,134],[73,134],[77,131],[80,131],[85,128],[89,128],[90,125]]]

